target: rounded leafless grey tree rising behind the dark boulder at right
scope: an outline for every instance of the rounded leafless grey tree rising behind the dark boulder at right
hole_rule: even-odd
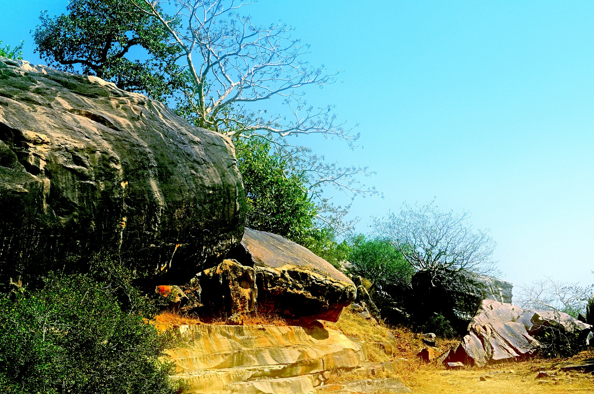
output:
[[[443,211],[434,201],[425,205],[403,204],[400,214],[373,218],[375,231],[419,271],[465,270],[497,275],[492,260],[497,243],[489,230],[475,230],[469,212]]]

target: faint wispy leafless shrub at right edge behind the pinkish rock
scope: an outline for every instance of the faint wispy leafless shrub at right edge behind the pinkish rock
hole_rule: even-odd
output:
[[[514,303],[523,308],[555,310],[575,317],[586,310],[593,292],[594,285],[582,287],[579,282],[561,282],[545,277],[520,286],[514,295]]]

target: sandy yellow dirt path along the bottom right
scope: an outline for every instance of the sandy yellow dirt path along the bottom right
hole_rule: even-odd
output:
[[[538,379],[539,367],[548,370],[551,376]],[[485,381],[481,381],[481,376]],[[423,394],[594,394],[594,375],[577,371],[566,374],[554,363],[536,361],[458,371],[422,365],[405,371],[400,378],[413,393]]]

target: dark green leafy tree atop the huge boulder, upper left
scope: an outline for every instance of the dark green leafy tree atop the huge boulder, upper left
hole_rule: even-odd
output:
[[[68,14],[42,12],[33,34],[36,51],[55,68],[80,68],[124,90],[163,100],[182,84],[175,65],[179,48],[167,43],[169,32],[159,21],[135,9],[119,0],[72,0]],[[146,51],[147,60],[128,59],[131,50]]]

